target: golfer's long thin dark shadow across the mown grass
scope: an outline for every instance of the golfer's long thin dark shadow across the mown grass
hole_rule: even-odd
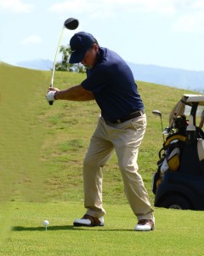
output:
[[[16,226],[13,227],[12,229],[13,231],[45,231],[44,227],[22,227],[22,226]],[[84,231],[134,231],[134,230],[116,230],[116,229],[109,229],[109,230],[105,230],[105,228],[101,227],[101,229],[99,227],[91,227],[91,228],[85,228],[85,227],[74,227],[72,225],[66,225],[66,226],[49,226],[48,230],[84,230]]]

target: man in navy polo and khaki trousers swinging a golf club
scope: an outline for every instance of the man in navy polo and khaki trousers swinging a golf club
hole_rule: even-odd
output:
[[[83,162],[84,206],[75,226],[103,226],[102,168],[116,150],[127,201],[137,218],[134,230],[154,230],[155,218],[147,191],[138,172],[139,145],[146,128],[144,104],[127,63],[111,49],[100,47],[87,32],[77,32],[70,41],[70,63],[87,68],[82,84],[67,90],[50,88],[48,102],[54,100],[91,101],[101,114]]]

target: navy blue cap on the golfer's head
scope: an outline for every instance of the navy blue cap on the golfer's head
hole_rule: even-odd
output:
[[[70,40],[71,46],[71,57],[69,62],[70,63],[79,63],[83,60],[84,56],[88,49],[90,49],[96,39],[93,37],[92,34],[87,32],[77,32]]]

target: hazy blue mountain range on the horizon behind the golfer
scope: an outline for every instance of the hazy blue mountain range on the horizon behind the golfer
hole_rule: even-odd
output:
[[[190,71],[180,68],[135,64],[132,62],[127,62],[127,64],[131,68],[136,81],[163,84],[204,93],[204,71]],[[51,70],[53,68],[53,61],[38,59],[20,61],[16,65],[32,69]]]

